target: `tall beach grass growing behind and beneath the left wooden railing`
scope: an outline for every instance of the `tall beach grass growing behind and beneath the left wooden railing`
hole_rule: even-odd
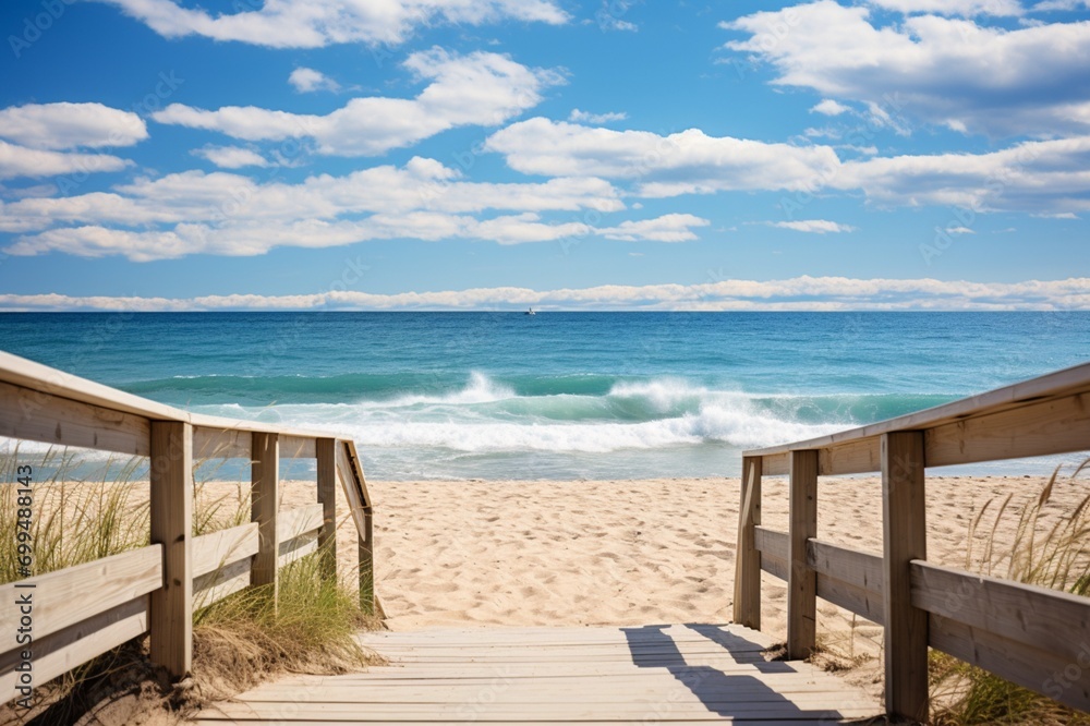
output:
[[[16,467],[32,461],[43,473],[34,485],[34,573],[100,559],[149,543],[147,459],[110,459],[93,479],[80,479],[80,455],[44,453],[13,445],[0,453],[0,482],[16,481]],[[194,467],[193,534],[250,520],[250,485],[208,487],[215,462]],[[19,501],[14,486],[0,486],[0,583],[22,579],[17,566]],[[349,524],[350,525],[350,524]],[[213,698],[226,698],[282,671],[344,673],[378,662],[353,638],[379,627],[364,613],[359,592],[319,577],[322,550],[282,568],[278,596],[270,586],[246,588],[194,613],[193,677],[170,683],[147,658],[147,637],[137,638],[35,689],[31,712],[0,706],[0,724],[70,724],[92,711],[122,710],[125,723],[140,713],[180,717]],[[120,705],[119,705],[120,704]]]

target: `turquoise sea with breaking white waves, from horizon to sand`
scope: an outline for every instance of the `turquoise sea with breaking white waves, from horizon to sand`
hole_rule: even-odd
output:
[[[1090,313],[25,313],[0,332],[157,401],[351,436],[376,479],[736,475],[743,448],[1090,359]]]

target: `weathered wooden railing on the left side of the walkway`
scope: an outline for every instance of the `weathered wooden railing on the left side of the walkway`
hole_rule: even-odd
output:
[[[182,677],[195,606],[250,585],[275,592],[280,568],[319,547],[323,576],[336,578],[338,482],[359,533],[361,604],[382,614],[373,508],[351,440],[189,413],[8,353],[0,436],[149,457],[152,543],[0,585],[2,702],[144,633],[152,660]],[[250,523],[192,536],[194,452],[252,462]],[[317,504],[279,510],[281,458],[316,460]],[[22,612],[21,597],[32,603]],[[33,641],[16,641],[21,627]]]

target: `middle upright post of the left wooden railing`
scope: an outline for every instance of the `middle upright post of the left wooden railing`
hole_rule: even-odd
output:
[[[258,548],[251,570],[255,585],[272,585],[278,593],[277,570],[280,541],[277,533],[277,509],[280,505],[280,443],[276,434],[254,432],[251,451],[251,515],[257,522]]]

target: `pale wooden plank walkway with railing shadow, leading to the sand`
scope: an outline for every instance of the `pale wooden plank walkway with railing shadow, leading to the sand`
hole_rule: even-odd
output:
[[[739,626],[364,633],[389,666],[293,676],[201,713],[223,723],[867,723],[882,706]]]

